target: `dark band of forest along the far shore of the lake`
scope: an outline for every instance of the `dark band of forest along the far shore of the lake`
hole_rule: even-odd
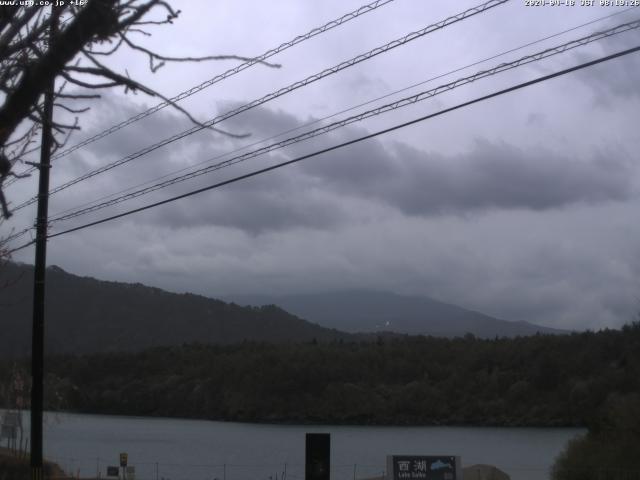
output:
[[[46,362],[48,408],[258,422],[588,425],[640,392],[640,323],[479,340],[185,345]],[[6,384],[8,362],[0,364]]]

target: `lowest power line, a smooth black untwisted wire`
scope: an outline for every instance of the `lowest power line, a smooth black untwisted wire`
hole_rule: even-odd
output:
[[[581,64],[576,65],[574,67],[566,68],[564,70],[560,70],[558,72],[555,72],[555,73],[552,73],[552,74],[549,74],[549,75],[544,75],[542,77],[538,77],[536,79],[529,80],[527,82],[522,82],[522,83],[519,83],[517,85],[513,85],[511,87],[508,87],[508,88],[505,88],[505,89],[498,90],[496,92],[490,93],[488,95],[484,95],[482,97],[478,97],[478,98],[475,98],[473,100],[469,100],[467,102],[463,102],[463,103],[457,104],[457,105],[455,105],[453,107],[445,108],[445,109],[440,110],[438,112],[431,113],[431,114],[428,114],[428,115],[424,115],[422,117],[410,120],[408,122],[404,122],[404,123],[395,125],[393,127],[385,128],[383,130],[379,130],[377,132],[374,132],[374,133],[371,133],[371,134],[368,134],[368,135],[364,135],[364,136],[358,137],[356,139],[349,140],[347,142],[343,142],[343,143],[340,143],[340,144],[337,144],[337,145],[333,145],[331,147],[327,147],[327,148],[324,148],[322,150],[317,150],[317,151],[315,151],[313,153],[309,153],[307,155],[302,155],[300,157],[294,158],[292,160],[288,160],[286,162],[281,162],[281,163],[278,163],[276,165],[272,165],[270,167],[262,168],[260,170],[255,170],[253,172],[250,172],[250,173],[247,173],[247,174],[244,174],[244,175],[240,175],[240,176],[231,178],[229,180],[218,182],[218,183],[215,183],[213,185],[209,185],[207,187],[199,188],[197,190],[192,190],[192,191],[184,193],[182,195],[178,195],[178,196],[171,197],[171,198],[159,201],[159,202],[155,202],[155,203],[152,203],[152,204],[149,204],[149,205],[145,205],[144,207],[139,207],[139,208],[135,208],[135,209],[132,209],[132,210],[128,210],[128,211],[120,213],[118,215],[113,215],[113,216],[110,216],[110,217],[103,218],[101,220],[97,220],[95,222],[90,222],[90,223],[86,223],[84,225],[80,225],[78,227],[70,228],[68,230],[63,230],[62,232],[58,232],[58,233],[54,233],[54,234],[48,235],[47,238],[55,238],[55,237],[59,237],[61,235],[66,235],[68,233],[76,232],[78,230],[84,230],[84,229],[89,228],[89,227],[100,225],[102,223],[106,223],[106,222],[109,222],[109,221],[112,221],[112,220],[116,220],[118,218],[126,217],[126,216],[132,215],[134,213],[142,212],[144,210],[149,210],[151,208],[155,208],[155,207],[158,207],[160,205],[164,205],[164,204],[167,204],[167,203],[175,202],[177,200],[181,200],[183,198],[187,198],[187,197],[190,197],[190,196],[193,196],[193,195],[197,195],[197,194],[202,193],[202,192],[206,192],[206,191],[209,191],[209,190],[220,188],[222,186],[229,185],[229,184],[232,184],[232,183],[236,183],[236,182],[239,182],[241,180],[246,180],[247,178],[255,177],[257,175],[261,175],[263,173],[267,173],[267,172],[270,172],[272,170],[276,170],[276,169],[285,167],[287,165],[292,165],[294,163],[301,162],[301,161],[306,160],[308,158],[316,157],[316,156],[324,154],[324,153],[328,153],[328,152],[331,152],[331,151],[334,151],[334,150],[338,150],[340,148],[344,148],[346,146],[353,145],[355,143],[359,143],[359,142],[362,142],[364,140],[369,140],[371,138],[374,138],[374,137],[377,137],[377,136],[380,136],[380,135],[384,135],[384,134],[390,133],[392,131],[399,130],[401,128],[405,128],[405,127],[408,127],[410,125],[414,125],[416,123],[423,122],[423,121],[429,120],[431,118],[434,118],[434,117],[437,117],[437,116],[440,116],[440,115],[444,115],[445,113],[449,113],[449,112],[452,112],[454,110],[465,108],[465,107],[468,107],[470,105],[473,105],[473,104],[476,104],[476,103],[480,103],[480,102],[483,102],[485,100],[489,100],[491,98],[498,97],[500,95],[504,95],[506,93],[514,92],[516,90],[520,90],[522,88],[529,87],[529,86],[535,85],[537,83],[545,82],[545,81],[551,80],[553,78],[560,77],[562,75],[566,75],[568,73],[575,72],[575,71],[578,71],[578,70],[581,70],[581,69],[584,69],[584,68],[587,68],[587,67],[591,67],[591,66],[603,63],[603,62],[607,62],[607,61],[613,60],[615,58],[623,57],[625,55],[629,55],[631,53],[635,53],[635,52],[638,52],[638,51],[640,51],[640,45],[636,46],[636,47],[633,47],[633,48],[626,49],[626,50],[622,50],[620,52],[617,52],[617,53],[614,53],[614,54],[611,54],[611,55],[607,55],[605,57],[600,57],[600,58],[598,58],[596,60],[591,60],[589,62],[581,63]],[[18,247],[16,249],[13,249],[9,253],[13,253],[13,252],[15,252],[17,250],[20,250],[22,248],[26,248],[30,244],[31,243],[23,245],[21,247]]]

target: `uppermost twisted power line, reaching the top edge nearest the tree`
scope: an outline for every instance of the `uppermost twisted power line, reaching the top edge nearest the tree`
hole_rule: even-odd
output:
[[[380,8],[388,3],[393,2],[394,0],[376,0],[375,2],[369,3],[368,5],[363,5],[362,7],[357,8],[356,10],[353,10],[352,12],[346,13],[344,15],[342,15],[339,18],[336,18],[334,20],[331,20],[330,22],[325,23],[324,25],[320,26],[320,27],[316,27],[312,30],[309,30],[307,33],[304,33],[302,35],[298,35],[297,37],[294,37],[293,39],[281,43],[280,45],[278,45],[275,48],[272,48],[270,50],[267,50],[266,52],[264,52],[261,55],[258,55],[255,58],[252,58],[250,60],[247,60],[246,62],[241,63],[240,65],[234,67],[234,68],[230,68],[229,70],[227,70],[226,72],[223,72],[219,75],[216,75],[213,78],[210,78],[209,80],[206,80],[204,82],[202,82],[200,85],[196,85],[195,87],[191,87],[188,90],[185,90],[179,94],[177,94],[176,96],[172,97],[169,99],[169,101],[166,102],[161,102],[158,105],[151,107],[147,110],[145,110],[144,112],[141,112],[137,115],[134,115],[133,117],[128,118],[127,120],[124,120],[116,125],[113,125],[109,128],[107,128],[106,130],[103,130],[100,133],[97,133],[96,135],[93,135],[89,138],[87,138],[86,140],[83,140],[82,142],[79,142],[75,145],[72,145],[71,147],[67,148],[66,150],[55,154],[52,157],[52,160],[57,160],[59,158],[62,157],[66,157],[67,155],[69,155],[70,153],[85,147],[97,140],[100,140],[108,135],[111,135],[112,133],[117,132],[118,130],[121,130],[122,128],[125,128],[135,122],[138,122],[139,120],[142,120],[145,117],[148,117],[149,115],[153,115],[154,113],[162,110],[163,108],[171,105],[172,103],[177,103],[181,100],[184,100],[187,97],[190,97],[191,95],[198,93],[202,90],[204,90],[205,88],[208,88],[222,80],[225,80],[233,75],[236,75],[237,73],[240,73],[256,64],[259,63],[263,63],[265,60],[273,57],[274,55],[277,55],[278,53],[282,53],[285,50],[299,44],[302,43],[306,40],[309,40],[313,37],[315,37],[316,35],[320,35],[322,33],[325,33],[335,27],[338,27],[340,25],[343,25],[351,20],[354,20],[366,13],[372,12],[374,10],[376,10],[377,8]],[[27,152],[25,152],[23,155],[30,153],[32,151],[35,150],[29,150]],[[13,160],[13,159],[12,159]],[[25,171],[25,173],[30,173],[33,170],[35,170],[35,167],[32,167],[28,170]],[[10,182],[7,182],[7,185],[10,185]]]

